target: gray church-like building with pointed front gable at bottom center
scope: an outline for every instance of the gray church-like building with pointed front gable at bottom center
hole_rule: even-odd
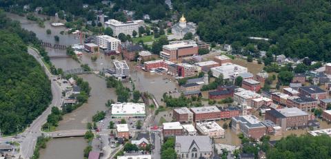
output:
[[[175,140],[177,158],[212,158],[214,149],[209,136],[176,136]]]

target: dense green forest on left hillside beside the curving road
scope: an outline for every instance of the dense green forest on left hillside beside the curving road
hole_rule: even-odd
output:
[[[50,81],[27,53],[27,43],[38,43],[0,10],[0,129],[12,134],[27,127],[52,99]],[[47,56],[47,54],[46,54]]]

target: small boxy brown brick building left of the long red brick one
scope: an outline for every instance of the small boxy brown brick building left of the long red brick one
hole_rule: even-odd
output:
[[[187,107],[174,109],[172,118],[180,123],[193,123],[193,113]]]

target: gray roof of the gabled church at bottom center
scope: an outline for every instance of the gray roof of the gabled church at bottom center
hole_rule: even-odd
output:
[[[209,136],[176,136],[175,146],[180,145],[181,152],[188,152],[194,144],[202,152],[212,151],[212,140]]]

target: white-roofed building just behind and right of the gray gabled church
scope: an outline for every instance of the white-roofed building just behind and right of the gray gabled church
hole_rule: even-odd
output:
[[[197,123],[197,129],[201,134],[209,136],[210,138],[225,137],[224,129],[214,121]]]

